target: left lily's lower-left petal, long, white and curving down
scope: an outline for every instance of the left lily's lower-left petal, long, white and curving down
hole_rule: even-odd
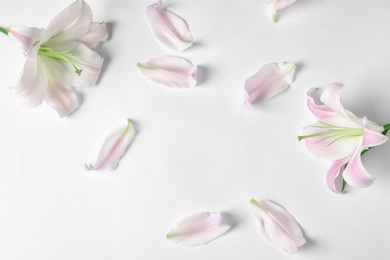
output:
[[[43,84],[42,75],[38,69],[36,52],[37,50],[33,50],[27,56],[19,80],[10,88],[11,94],[25,108],[39,106],[46,92],[46,84]]]

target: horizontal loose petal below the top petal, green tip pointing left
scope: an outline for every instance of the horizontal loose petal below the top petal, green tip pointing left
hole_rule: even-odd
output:
[[[173,88],[196,86],[197,66],[183,58],[161,56],[138,63],[137,66],[144,77],[152,83]]]

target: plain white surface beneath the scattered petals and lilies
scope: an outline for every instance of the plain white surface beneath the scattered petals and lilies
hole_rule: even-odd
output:
[[[175,54],[149,31],[153,1],[89,0],[109,24],[96,87],[78,89],[79,109],[65,119],[46,105],[22,110],[8,92],[24,63],[0,36],[0,259],[385,259],[390,253],[390,143],[363,162],[367,189],[332,194],[329,164],[296,140],[314,122],[306,92],[334,81],[359,116],[390,123],[390,2],[298,0],[272,24],[264,1],[167,0],[196,44],[182,56],[204,79],[195,89],[146,82],[136,62]],[[0,25],[45,27],[68,0],[1,0]],[[244,80],[263,64],[295,62],[285,93],[248,111]],[[106,135],[126,119],[138,131],[119,167],[91,173]],[[270,199],[300,223],[308,243],[294,256],[261,237],[250,198]],[[172,245],[178,219],[222,211],[232,229],[207,246]]]

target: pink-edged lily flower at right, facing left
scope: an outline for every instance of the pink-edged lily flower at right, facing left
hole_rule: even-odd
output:
[[[308,92],[307,106],[317,122],[303,129],[298,140],[304,140],[314,156],[331,161],[326,183],[331,191],[341,193],[343,182],[352,187],[368,187],[374,178],[361,161],[363,151],[388,140],[383,126],[359,118],[341,104],[343,85],[333,83],[326,87],[320,98],[318,89]]]

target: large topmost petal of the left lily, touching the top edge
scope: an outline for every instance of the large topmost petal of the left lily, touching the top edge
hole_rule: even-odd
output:
[[[41,35],[41,44],[75,41],[90,30],[92,11],[84,0],[77,0],[54,17]]]

